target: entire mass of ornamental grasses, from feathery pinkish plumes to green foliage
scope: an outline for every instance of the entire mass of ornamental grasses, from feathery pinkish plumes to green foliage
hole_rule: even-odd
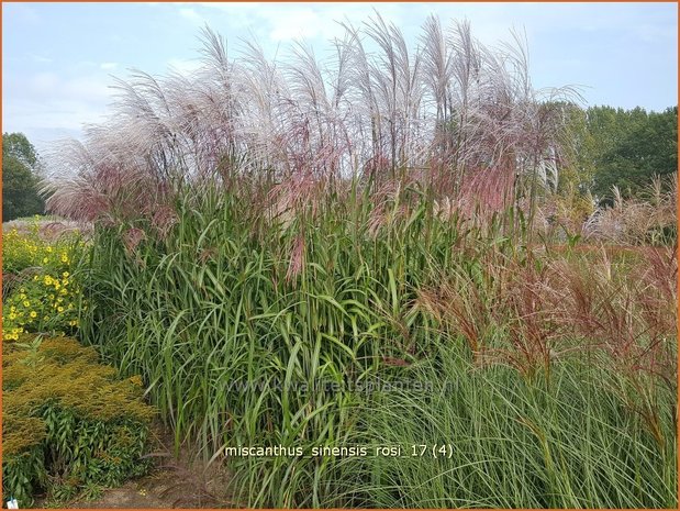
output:
[[[205,30],[196,74],[133,73],[59,145],[48,207],[96,224],[83,341],[237,504],[676,507],[668,215],[550,208],[578,95],[535,90],[521,37],[344,26],[275,62]],[[664,246],[614,257],[622,220]],[[430,390],[355,388],[404,378]],[[382,443],[408,454],[225,456]]]

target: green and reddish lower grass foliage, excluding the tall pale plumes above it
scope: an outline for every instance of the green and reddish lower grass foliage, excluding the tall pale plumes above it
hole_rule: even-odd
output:
[[[417,189],[380,218],[356,189],[306,224],[248,204],[203,187],[167,234],[99,229],[81,330],[143,375],[177,448],[231,467],[236,501],[675,506],[672,252],[655,271],[645,256],[547,256],[522,222],[442,220]],[[356,390],[375,379],[425,390]],[[411,456],[421,444],[450,454]],[[403,456],[309,455],[361,445]]]

